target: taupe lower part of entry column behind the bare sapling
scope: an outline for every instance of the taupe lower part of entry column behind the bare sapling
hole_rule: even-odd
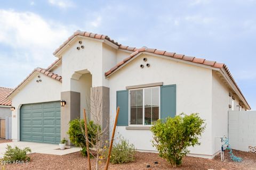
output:
[[[91,88],[91,120],[106,130],[105,139],[109,140],[109,88],[100,86]]]

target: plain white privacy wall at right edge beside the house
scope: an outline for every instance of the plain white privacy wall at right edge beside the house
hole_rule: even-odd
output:
[[[256,111],[229,111],[228,138],[232,149],[254,150],[256,148]]]

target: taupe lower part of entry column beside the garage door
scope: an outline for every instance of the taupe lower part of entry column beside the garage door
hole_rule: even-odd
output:
[[[67,134],[69,121],[80,117],[80,93],[75,91],[62,91],[61,100],[66,101],[66,105],[61,107],[61,125],[60,137],[68,140],[67,145],[70,146],[69,137]]]

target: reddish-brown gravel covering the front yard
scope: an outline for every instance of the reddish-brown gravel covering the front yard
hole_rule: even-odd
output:
[[[111,165],[109,169],[186,169],[186,170],[199,170],[199,169],[239,169],[239,170],[251,170],[256,169],[256,154],[249,152],[242,152],[234,150],[236,156],[242,157],[244,160],[242,163],[232,162],[226,151],[225,162],[220,161],[220,156],[217,155],[214,159],[204,159],[186,156],[183,159],[181,167],[172,168],[164,159],[159,158],[158,154],[137,152],[135,162],[129,164]],[[6,165],[5,169],[87,169],[87,159],[81,156],[79,152],[73,154],[57,156],[47,154],[30,154],[31,161],[29,164],[12,164]],[[158,164],[154,164],[158,162]],[[94,159],[92,159],[92,165],[94,165]],[[147,165],[150,168],[147,168]],[[102,166],[104,163],[102,164]],[[92,168],[94,169],[94,167]]]

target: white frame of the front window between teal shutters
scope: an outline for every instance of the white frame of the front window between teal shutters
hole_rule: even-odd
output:
[[[151,88],[157,88],[158,87],[158,92],[159,92],[159,117],[158,117],[158,119],[160,119],[160,117],[161,117],[161,113],[160,113],[160,111],[161,111],[161,103],[160,103],[160,101],[161,101],[161,99],[160,99],[160,86],[155,86],[155,87],[145,87],[145,88],[136,88],[136,89],[129,89],[129,126],[153,126],[153,125],[150,125],[150,124],[148,124],[148,125],[145,125],[145,89],[151,89]],[[142,121],[142,124],[131,124],[131,99],[130,99],[130,97],[131,97],[131,91],[133,91],[133,90],[143,90],[143,105],[142,105],[142,109],[143,109],[143,121]]]

